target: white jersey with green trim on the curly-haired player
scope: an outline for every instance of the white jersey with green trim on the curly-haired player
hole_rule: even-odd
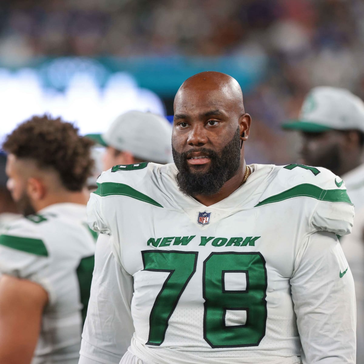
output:
[[[76,203],[50,205],[0,235],[0,272],[48,293],[32,364],[78,362],[96,236],[86,206]]]

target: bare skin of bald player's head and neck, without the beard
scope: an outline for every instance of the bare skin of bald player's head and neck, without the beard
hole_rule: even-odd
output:
[[[240,139],[248,140],[251,121],[237,81],[220,72],[202,72],[187,79],[175,96],[172,145],[179,153],[191,151],[189,157],[203,155],[198,151],[202,147],[219,153],[238,128]],[[191,173],[203,173],[210,167],[209,158],[188,158],[187,163]],[[243,145],[240,167],[221,190],[193,197],[205,206],[223,200],[240,187],[245,166]]]

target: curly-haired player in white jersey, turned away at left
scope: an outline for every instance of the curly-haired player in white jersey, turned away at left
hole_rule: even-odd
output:
[[[0,236],[0,363],[78,361],[94,267],[91,145],[47,115],[5,139],[7,187],[24,217]]]

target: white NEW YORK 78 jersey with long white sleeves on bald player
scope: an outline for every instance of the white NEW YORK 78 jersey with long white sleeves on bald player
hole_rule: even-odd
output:
[[[111,322],[111,306],[135,328],[120,363],[355,363],[353,279],[335,235],[352,227],[344,182],[302,165],[250,169],[208,207],[179,191],[173,164],[100,175],[88,221],[119,269],[110,256],[95,268],[79,363],[122,356],[129,330],[114,335],[130,323]],[[105,289],[113,280],[120,293]]]

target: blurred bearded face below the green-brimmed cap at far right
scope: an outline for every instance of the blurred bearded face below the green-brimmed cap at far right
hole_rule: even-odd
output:
[[[362,147],[359,144],[359,134],[355,130],[301,132],[301,135],[302,164],[325,167],[339,176],[361,164]]]

